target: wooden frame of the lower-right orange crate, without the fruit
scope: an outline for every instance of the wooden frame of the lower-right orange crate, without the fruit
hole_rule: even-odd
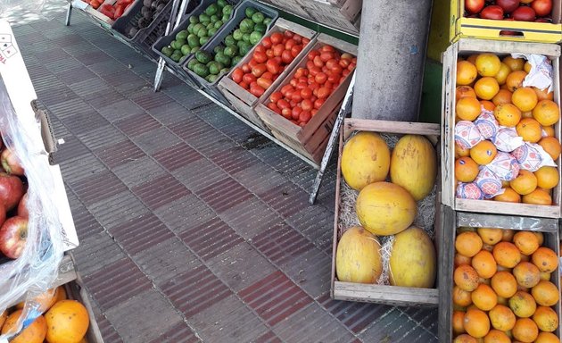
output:
[[[454,285],[453,271],[455,258],[455,237],[459,227],[472,228],[495,228],[511,230],[530,230],[540,231],[544,235],[544,247],[550,247],[559,255],[558,220],[551,218],[520,217],[509,215],[482,214],[482,213],[462,213],[452,210],[450,207],[442,205],[441,211],[442,227],[447,230],[442,231],[439,239],[440,262],[438,274],[439,291],[441,301],[439,303],[439,341],[451,342],[452,333],[452,289]],[[556,271],[550,275],[552,281],[560,289],[560,272]],[[560,302],[554,306],[558,314],[561,314]],[[560,337],[560,327],[555,330],[558,338]]]

